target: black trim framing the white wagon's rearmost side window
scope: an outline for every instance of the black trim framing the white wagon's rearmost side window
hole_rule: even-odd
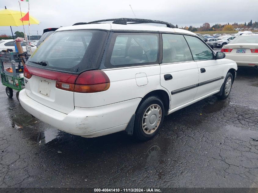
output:
[[[112,30],[111,30],[112,31]],[[149,63],[136,63],[136,64],[125,64],[125,65],[119,65],[119,66],[115,66],[115,65],[112,65],[110,60],[111,60],[111,55],[112,55],[112,52],[113,52],[113,48],[114,48],[114,43],[115,43],[115,40],[116,40],[116,37],[118,35],[121,35],[121,34],[156,34],[156,36],[158,37],[158,55],[157,55],[157,60],[155,62],[149,62]],[[158,34],[158,35],[157,35]],[[101,65],[100,65],[100,70],[103,70],[103,69],[121,69],[121,68],[125,68],[125,67],[134,67],[134,66],[148,66],[148,65],[159,65],[160,63],[160,47],[162,46],[161,43],[160,43],[160,33],[159,32],[147,32],[147,31],[125,31],[125,30],[115,30],[115,31],[112,31],[110,33],[110,37],[108,38],[108,43],[106,45],[106,49],[104,51],[104,55],[103,55],[103,61],[101,62]],[[112,47],[111,47],[112,46]]]

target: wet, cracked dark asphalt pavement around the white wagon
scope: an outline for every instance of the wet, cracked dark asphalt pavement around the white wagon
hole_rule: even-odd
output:
[[[0,86],[0,187],[258,187],[258,71],[230,96],[165,117],[158,135],[82,138],[32,118]]]

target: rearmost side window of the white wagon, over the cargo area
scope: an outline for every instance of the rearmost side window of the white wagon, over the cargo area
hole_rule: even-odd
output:
[[[114,33],[105,66],[118,68],[158,63],[157,33]]]

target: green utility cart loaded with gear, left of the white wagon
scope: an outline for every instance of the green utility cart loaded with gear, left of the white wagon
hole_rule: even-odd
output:
[[[0,74],[1,74],[2,84],[6,86],[5,88],[6,95],[9,98],[13,97],[13,89],[14,89],[17,91],[16,98],[18,99],[18,101],[19,101],[19,92],[25,88],[24,78],[23,78],[23,65],[21,63],[22,58],[20,56],[21,55],[18,52],[1,52],[0,54],[0,62],[1,62]],[[18,63],[18,67],[16,66],[16,63]]]

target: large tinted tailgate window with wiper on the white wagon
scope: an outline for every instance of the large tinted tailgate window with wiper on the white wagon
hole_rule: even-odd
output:
[[[71,73],[98,68],[106,31],[59,31],[47,38],[27,60],[29,66]],[[37,64],[44,63],[45,66]]]

